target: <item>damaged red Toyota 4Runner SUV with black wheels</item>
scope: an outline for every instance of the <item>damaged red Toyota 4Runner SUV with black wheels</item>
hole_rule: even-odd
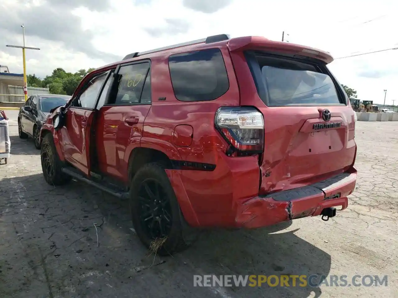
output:
[[[130,200],[160,254],[197,228],[336,215],[355,188],[354,112],[307,46],[215,35],[135,52],[86,75],[40,132],[52,185],[83,180]]]

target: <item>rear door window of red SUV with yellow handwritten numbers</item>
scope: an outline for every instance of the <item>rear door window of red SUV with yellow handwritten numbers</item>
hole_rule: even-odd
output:
[[[115,104],[139,104],[149,62],[121,66],[117,75],[117,95]],[[148,100],[148,99],[147,99]]]

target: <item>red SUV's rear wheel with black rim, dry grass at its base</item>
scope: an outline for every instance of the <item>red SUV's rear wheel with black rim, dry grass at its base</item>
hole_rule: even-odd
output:
[[[152,253],[172,255],[197,240],[197,230],[185,222],[161,163],[146,164],[135,174],[130,187],[130,209],[134,229]]]

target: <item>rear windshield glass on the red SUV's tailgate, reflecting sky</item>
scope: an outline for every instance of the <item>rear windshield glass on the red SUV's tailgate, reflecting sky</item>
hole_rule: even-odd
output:
[[[332,78],[318,67],[283,58],[256,58],[269,106],[341,103]]]

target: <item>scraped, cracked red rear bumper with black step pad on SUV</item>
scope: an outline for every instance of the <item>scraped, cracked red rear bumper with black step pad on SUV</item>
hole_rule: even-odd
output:
[[[351,168],[321,182],[291,190],[252,197],[238,203],[235,217],[237,227],[258,228],[298,219],[318,216],[328,207],[347,208],[348,199],[355,189],[357,171]]]

